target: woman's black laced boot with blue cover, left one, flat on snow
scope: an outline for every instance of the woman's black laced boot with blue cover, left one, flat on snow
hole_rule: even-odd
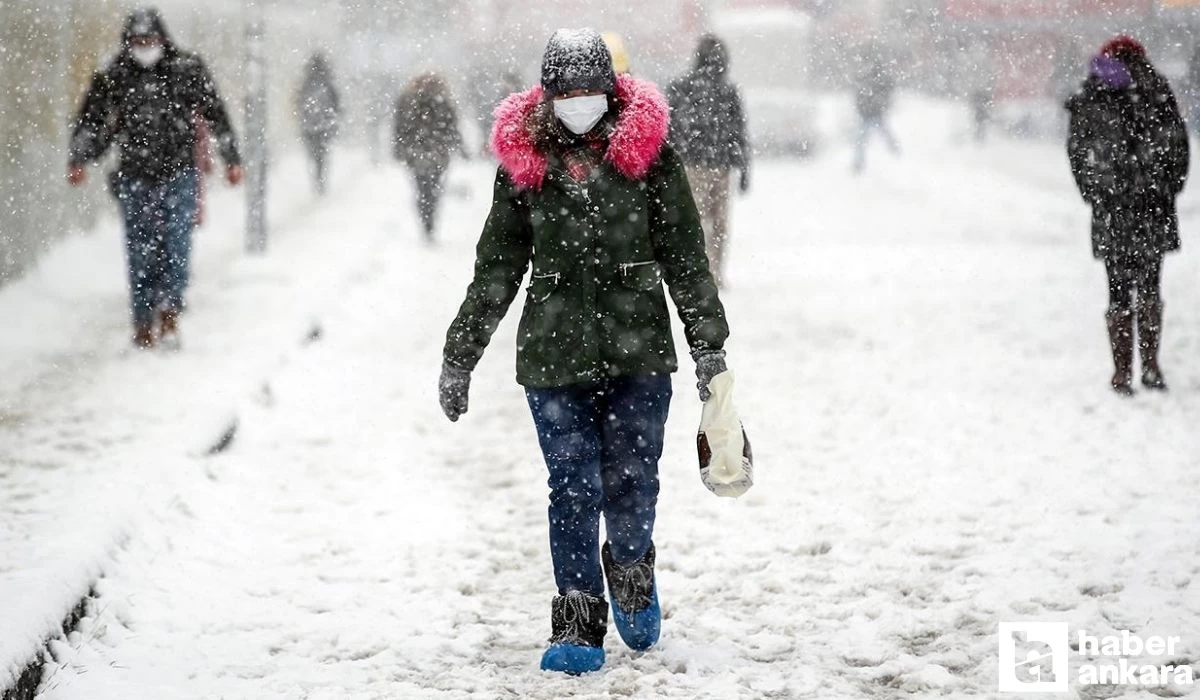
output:
[[[550,648],[541,657],[541,670],[578,676],[604,666],[604,635],[608,632],[608,604],[604,598],[578,591],[556,596],[550,624]]]

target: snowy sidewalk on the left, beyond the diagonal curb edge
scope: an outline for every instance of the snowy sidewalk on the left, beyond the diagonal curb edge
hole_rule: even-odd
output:
[[[173,493],[194,468],[190,455],[217,441],[238,405],[370,274],[372,252],[401,234],[386,223],[402,217],[398,175],[350,177],[362,161],[344,154],[347,177],[318,203],[302,161],[286,160],[263,258],[242,253],[240,193],[215,193],[196,235],[181,353],[128,348],[121,234],[110,219],[0,291],[0,688],[118,548],[140,537],[137,514]]]

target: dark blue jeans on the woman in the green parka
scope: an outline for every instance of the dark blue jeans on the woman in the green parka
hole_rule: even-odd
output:
[[[550,469],[550,554],[559,594],[604,596],[600,515],[619,564],[654,536],[671,377],[526,389]]]

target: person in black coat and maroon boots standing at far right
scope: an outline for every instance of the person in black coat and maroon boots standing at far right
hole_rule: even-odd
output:
[[[1079,191],[1092,205],[1092,252],[1104,261],[1109,279],[1112,388],[1133,394],[1136,325],[1141,382],[1165,389],[1158,365],[1162,270],[1164,256],[1180,247],[1175,199],[1187,181],[1187,128],[1166,79],[1146,49],[1126,36],[1092,59],[1067,109],[1067,154]]]

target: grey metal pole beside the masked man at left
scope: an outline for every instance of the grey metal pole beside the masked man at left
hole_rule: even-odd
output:
[[[257,4],[246,24],[246,251],[266,252],[266,20]]]

